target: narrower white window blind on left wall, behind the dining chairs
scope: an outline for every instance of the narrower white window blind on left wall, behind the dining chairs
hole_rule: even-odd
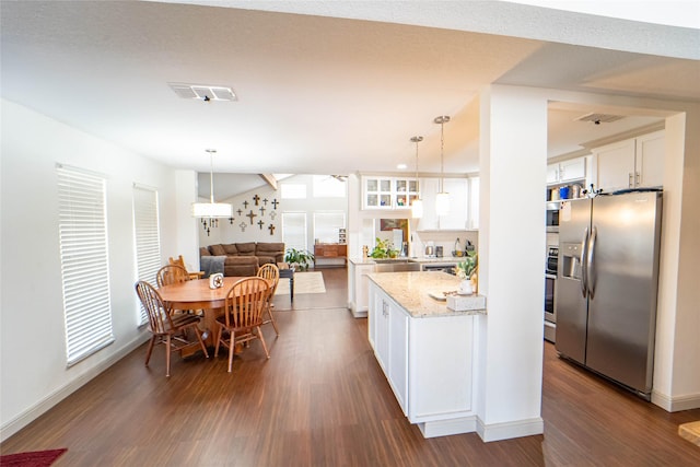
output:
[[[158,218],[158,191],[133,186],[133,244],[138,280],[155,283],[155,275],[161,268],[161,234]],[[139,325],[149,317],[139,300]]]

